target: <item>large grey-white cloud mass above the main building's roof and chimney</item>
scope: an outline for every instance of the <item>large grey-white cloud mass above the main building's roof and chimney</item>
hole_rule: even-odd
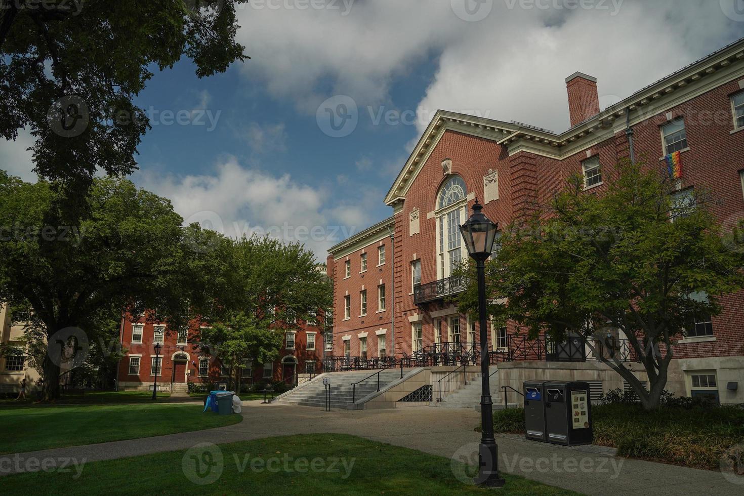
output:
[[[420,115],[448,109],[559,132],[568,128],[564,80],[574,71],[597,77],[608,105],[741,31],[718,1],[482,0],[493,8],[478,22],[455,15],[458,2],[479,4],[356,1],[346,16],[340,1],[339,10],[246,7],[238,38],[253,59],[243,71],[314,114],[333,94],[359,106],[387,103],[397,75],[439,55]],[[597,8],[570,8],[583,4]]]

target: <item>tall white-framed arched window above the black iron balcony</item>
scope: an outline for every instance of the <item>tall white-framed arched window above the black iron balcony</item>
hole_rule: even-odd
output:
[[[465,218],[467,188],[459,175],[453,175],[444,184],[437,198],[437,278],[449,277],[452,269],[463,259],[463,242],[460,225]]]

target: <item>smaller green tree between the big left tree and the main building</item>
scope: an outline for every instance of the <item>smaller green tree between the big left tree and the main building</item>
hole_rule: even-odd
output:
[[[284,333],[326,315],[333,289],[315,255],[299,243],[251,236],[232,246],[229,283],[219,297],[226,315],[200,329],[199,346],[225,364],[234,384],[246,361],[274,361]]]

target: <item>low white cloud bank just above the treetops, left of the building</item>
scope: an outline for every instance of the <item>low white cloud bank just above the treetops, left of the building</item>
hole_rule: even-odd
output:
[[[372,202],[379,202],[379,192],[355,198],[353,204],[339,202],[288,174],[243,167],[232,156],[218,161],[210,175],[141,172],[135,181],[169,198],[187,223],[199,222],[232,238],[268,233],[304,242],[318,260],[325,260],[332,245],[374,222],[368,213]]]

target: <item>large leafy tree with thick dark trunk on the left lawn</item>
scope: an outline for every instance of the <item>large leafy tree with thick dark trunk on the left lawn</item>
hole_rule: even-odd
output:
[[[66,209],[57,195],[57,184],[0,171],[0,301],[28,302],[48,342],[46,400],[59,396],[62,362],[83,366],[102,318],[153,309],[150,318],[178,329],[189,315],[219,312],[210,295],[225,283],[218,260],[229,244],[196,225],[182,228],[169,200],[126,179],[96,179],[83,209]],[[69,350],[72,358],[62,356]]]

